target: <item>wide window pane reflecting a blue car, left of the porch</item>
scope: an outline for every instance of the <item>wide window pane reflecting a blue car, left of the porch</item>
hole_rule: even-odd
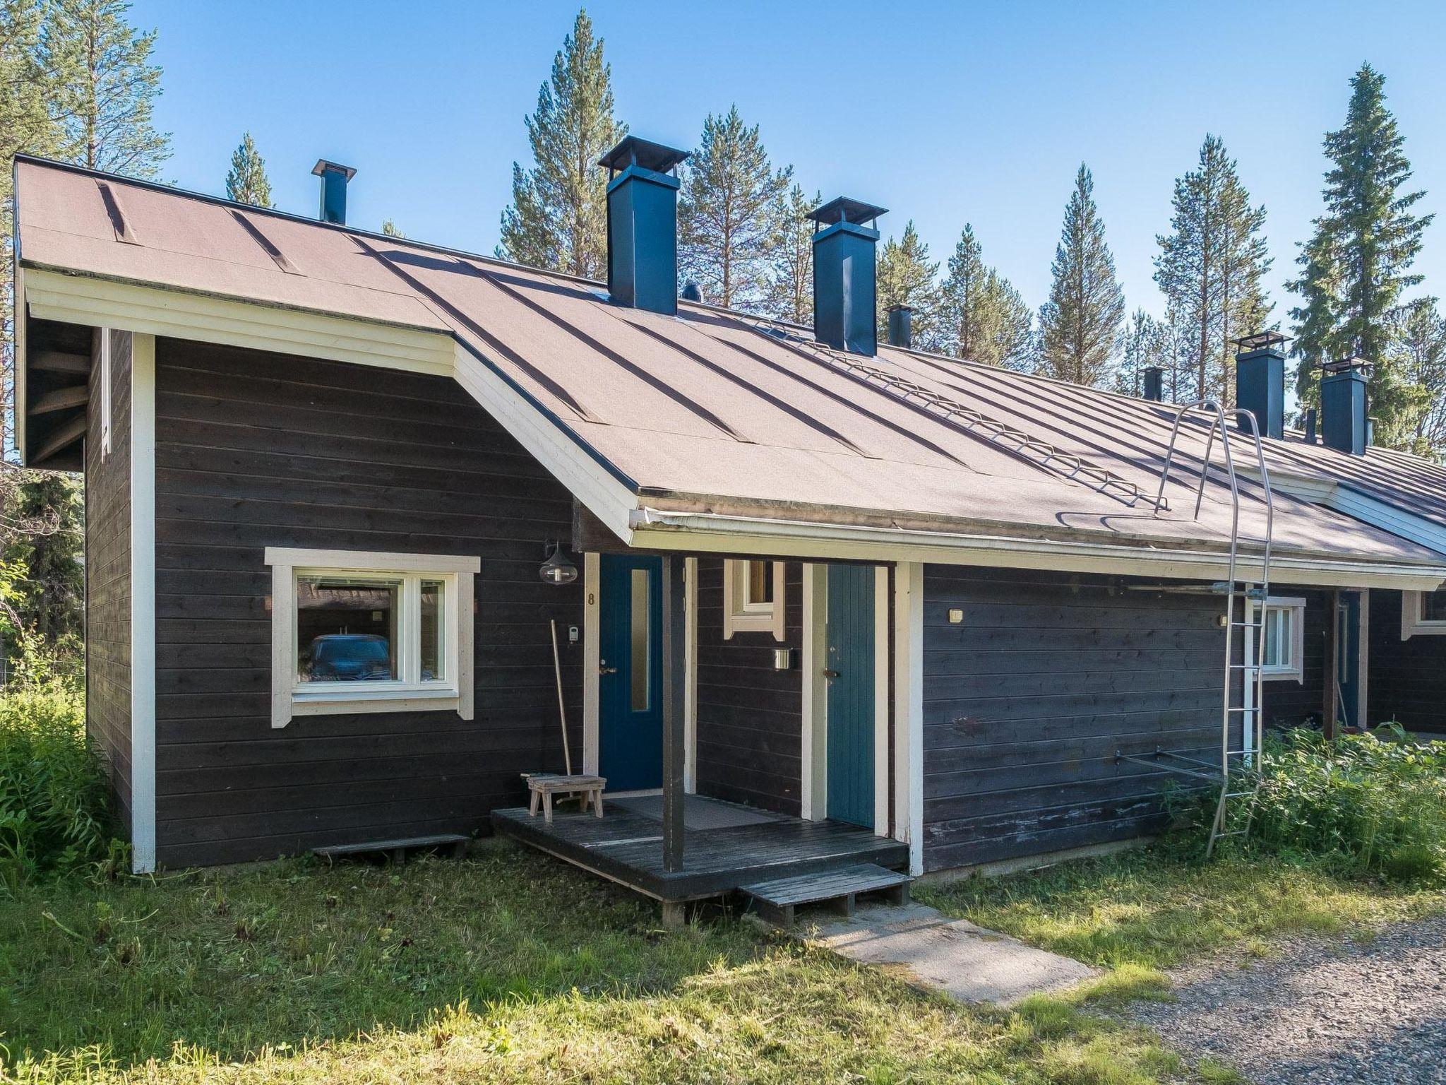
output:
[[[396,580],[296,577],[296,678],[395,681]]]

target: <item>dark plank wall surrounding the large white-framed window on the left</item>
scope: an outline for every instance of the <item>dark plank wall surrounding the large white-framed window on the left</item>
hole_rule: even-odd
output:
[[[483,829],[562,765],[548,619],[581,749],[581,583],[538,579],[573,503],[453,380],[156,344],[158,846],[176,867]],[[479,556],[476,719],[272,729],[263,548]]]

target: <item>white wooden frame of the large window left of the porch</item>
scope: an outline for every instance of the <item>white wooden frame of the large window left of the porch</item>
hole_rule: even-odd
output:
[[[356,712],[455,712],[473,718],[473,576],[476,557],[444,554],[385,554],[357,550],[266,547],[272,569],[272,726],[294,716]],[[360,576],[402,582],[398,615],[398,658],[402,681],[298,681],[296,577]],[[419,589],[422,580],[442,582],[442,677],[406,681],[418,664]]]

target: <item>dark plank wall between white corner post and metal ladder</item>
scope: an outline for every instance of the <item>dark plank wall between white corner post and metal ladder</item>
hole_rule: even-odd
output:
[[[1180,777],[1115,751],[1219,755],[1220,612],[1119,579],[927,566],[925,868],[1158,829]]]

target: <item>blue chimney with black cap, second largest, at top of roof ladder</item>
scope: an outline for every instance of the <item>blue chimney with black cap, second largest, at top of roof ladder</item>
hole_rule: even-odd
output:
[[[873,223],[882,207],[840,197],[813,211],[814,339],[834,350],[878,353],[879,318],[873,281]]]

